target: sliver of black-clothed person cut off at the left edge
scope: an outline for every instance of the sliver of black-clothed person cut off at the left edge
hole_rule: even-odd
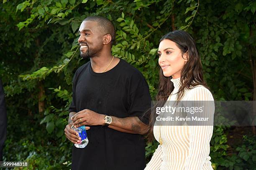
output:
[[[5,107],[5,94],[0,79],[0,161],[3,160],[3,145],[6,139],[7,115]]]

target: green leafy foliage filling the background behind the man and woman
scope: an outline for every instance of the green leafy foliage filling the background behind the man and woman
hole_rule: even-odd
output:
[[[12,120],[4,160],[26,160],[27,169],[70,169],[72,144],[64,128],[72,77],[87,62],[79,56],[77,30],[89,15],[113,21],[113,55],[142,72],[152,99],[159,82],[159,39],[175,29],[195,38],[216,100],[253,99],[253,0],[3,0],[0,9],[0,76]],[[246,136],[230,145],[230,128],[214,127],[212,167],[253,169],[255,139]],[[147,161],[157,146],[147,144]]]

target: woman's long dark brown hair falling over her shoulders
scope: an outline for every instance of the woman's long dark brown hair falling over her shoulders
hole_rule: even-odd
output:
[[[197,85],[205,86],[207,89],[206,82],[203,79],[202,63],[196,47],[196,43],[189,33],[183,30],[175,30],[164,35],[159,42],[163,40],[173,41],[183,54],[187,53],[187,63],[184,65],[181,71],[180,82],[181,86],[177,92],[177,101],[181,100],[184,96],[184,92],[187,89],[193,89]],[[149,126],[148,126],[148,141],[154,140],[153,127],[156,120],[156,107],[162,107],[169,95],[174,90],[173,82],[171,81],[172,76],[166,77],[163,74],[163,70],[160,68],[159,71],[159,87],[156,95],[156,104],[146,114],[150,114]]]

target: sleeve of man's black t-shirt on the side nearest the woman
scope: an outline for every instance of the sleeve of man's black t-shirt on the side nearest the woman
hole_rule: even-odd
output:
[[[141,122],[148,124],[149,117],[144,113],[151,107],[151,97],[148,84],[139,71],[134,72],[131,77],[128,103],[130,117],[136,116]]]

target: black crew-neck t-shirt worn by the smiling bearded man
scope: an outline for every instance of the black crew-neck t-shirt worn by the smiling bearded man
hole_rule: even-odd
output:
[[[90,61],[81,66],[73,79],[73,101],[69,112],[90,109],[115,117],[143,117],[151,106],[148,84],[141,72],[120,59],[105,73],[92,71]],[[90,126],[89,143],[73,147],[72,170],[143,170],[145,141],[139,134],[119,132],[102,126]]]

